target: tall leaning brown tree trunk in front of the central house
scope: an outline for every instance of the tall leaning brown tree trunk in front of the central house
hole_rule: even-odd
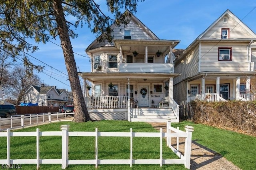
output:
[[[54,16],[56,18],[58,34],[60,36],[60,42],[64,54],[65,64],[68,71],[68,78],[70,81],[70,86],[73,94],[75,109],[73,121],[90,121],[91,119],[86,108],[84,97],[82,95],[83,93],[77,73],[76,61],[74,58],[74,53],[68,34],[68,27],[66,25],[66,19],[62,8],[62,0],[53,0],[53,9]]]

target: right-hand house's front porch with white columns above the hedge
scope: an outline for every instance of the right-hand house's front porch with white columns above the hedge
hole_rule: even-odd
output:
[[[207,74],[206,74],[207,75]],[[214,76],[214,77],[212,77]],[[227,101],[227,100],[256,100],[255,90],[251,87],[251,77],[225,75],[215,77],[207,75],[188,82],[188,102],[193,100]],[[219,75],[220,76],[220,75]]]

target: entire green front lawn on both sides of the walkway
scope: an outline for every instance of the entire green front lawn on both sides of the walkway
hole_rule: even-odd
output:
[[[38,127],[24,128],[15,131],[60,131],[61,125],[70,125],[70,131],[98,131],[106,132],[156,132],[147,123],[131,123],[128,121],[100,121],[87,123],[60,122],[42,125]],[[256,137],[222,130],[206,125],[194,124],[189,121],[172,123],[172,127],[180,127],[184,130],[185,125],[194,127],[192,140],[214,150],[227,160],[233,162],[243,170],[256,169]],[[36,137],[11,137],[11,159],[35,159],[36,158]],[[0,159],[6,159],[6,138],[0,138]],[[160,139],[159,138],[133,138],[134,159],[159,159]],[[61,137],[41,136],[40,137],[40,158],[61,158]],[[95,138],[83,136],[69,137],[69,159],[94,159]],[[129,159],[130,138],[129,137],[99,137],[98,138],[98,159]],[[163,141],[163,158],[177,158]],[[36,165],[22,165],[22,169],[36,169]],[[61,169],[61,165],[41,164],[40,170]],[[94,165],[69,165],[67,169],[72,170],[94,170]],[[99,165],[102,170],[182,170],[184,165]]]

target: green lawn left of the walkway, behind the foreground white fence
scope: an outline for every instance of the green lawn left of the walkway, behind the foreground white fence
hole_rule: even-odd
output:
[[[147,123],[131,123],[128,121],[100,121],[87,123],[60,122],[42,125],[38,127],[24,128],[15,131],[60,131],[61,125],[70,125],[69,131],[98,131],[106,132],[157,132]],[[36,137],[11,137],[11,159],[35,159],[36,158]],[[6,138],[0,138],[0,159],[6,159]],[[60,159],[61,158],[61,136],[40,136],[40,158]],[[98,159],[129,159],[130,158],[130,137],[99,137],[98,138]],[[134,159],[159,159],[160,138],[156,137],[134,137],[133,138]],[[163,140],[163,158],[177,159],[178,156],[166,146]],[[74,159],[95,159],[95,137],[70,136],[69,137],[69,160]],[[22,169],[36,169],[36,165],[22,165]],[[41,164],[40,170],[61,169],[60,164]],[[69,165],[67,169],[88,169],[94,170],[95,165]],[[102,170],[130,170],[130,165],[98,165]],[[184,165],[133,165],[134,170],[184,170]]]

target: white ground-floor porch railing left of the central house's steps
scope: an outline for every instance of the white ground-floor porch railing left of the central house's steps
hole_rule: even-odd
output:
[[[86,97],[87,109],[118,109],[127,108],[128,96]]]

